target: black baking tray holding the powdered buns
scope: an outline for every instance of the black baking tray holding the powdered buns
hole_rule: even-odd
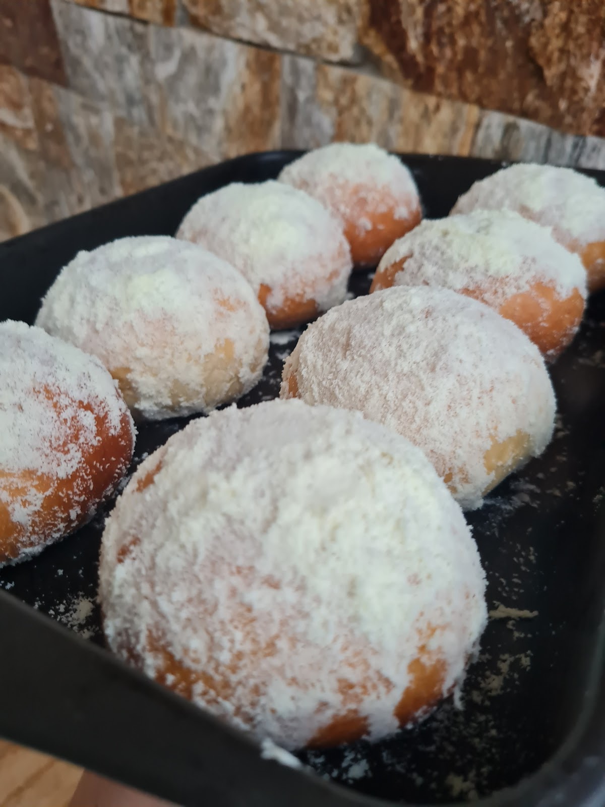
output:
[[[200,195],[275,178],[296,156],[239,157],[0,245],[0,320],[33,322],[79,249],[173,234]],[[402,157],[428,217],[447,215],[459,194],[502,165]],[[605,174],[586,173],[605,185]],[[354,274],[351,293],[365,294],[370,279]],[[277,395],[300,332],[273,335],[264,377],[241,406]],[[491,618],[461,709],[446,700],[420,725],[373,746],[300,754],[303,771],[261,759],[248,738],[99,647],[98,547],[111,502],[40,557],[0,570],[0,734],[186,805],[603,807],[605,295],[590,300],[551,374],[559,411],[552,444],[468,514]],[[186,422],[140,426],[131,470]],[[23,721],[23,699],[35,720]]]

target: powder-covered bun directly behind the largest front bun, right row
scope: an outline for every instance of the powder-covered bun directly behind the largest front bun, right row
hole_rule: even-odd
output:
[[[548,445],[555,397],[536,345],[477,300],[433,286],[359,297],[312,324],[282,397],[357,409],[423,449],[463,508]]]

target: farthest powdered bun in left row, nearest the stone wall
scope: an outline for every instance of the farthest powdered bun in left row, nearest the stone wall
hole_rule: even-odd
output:
[[[373,143],[315,148],[286,165],[279,179],[306,190],[340,218],[360,267],[376,266],[393,241],[422,218],[409,169]]]

